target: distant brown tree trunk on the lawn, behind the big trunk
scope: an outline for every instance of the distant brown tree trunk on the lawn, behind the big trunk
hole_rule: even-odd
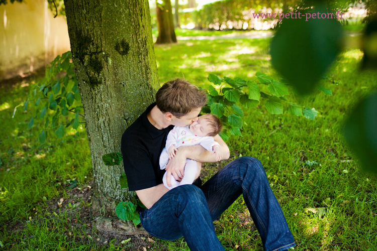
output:
[[[156,0],[157,2],[157,0]],[[174,32],[173,14],[170,0],[164,0],[163,4],[156,4],[158,37],[156,44],[176,43]]]

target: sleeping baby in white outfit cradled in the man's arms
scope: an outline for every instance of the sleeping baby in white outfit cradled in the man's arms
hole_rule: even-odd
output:
[[[166,168],[167,162],[175,157],[175,151],[180,146],[201,145],[212,154],[216,155],[216,161],[222,158],[221,147],[212,138],[221,132],[222,124],[216,115],[204,114],[199,119],[187,127],[174,127],[168,134],[166,139],[166,146],[160,155],[160,168]],[[165,187],[172,189],[174,187],[193,184],[195,176],[198,172],[198,164],[195,160],[186,159],[184,166],[184,176],[179,182],[171,175],[171,186],[166,184],[166,173],[162,179]]]

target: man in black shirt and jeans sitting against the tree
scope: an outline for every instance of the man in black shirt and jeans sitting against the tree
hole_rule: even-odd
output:
[[[159,156],[173,126],[188,126],[198,120],[206,104],[206,93],[182,79],[166,82],[156,93],[156,103],[125,131],[122,155],[130,191],[147,207],[140,211],[141,224],[151,235],[165,240],[184,236],[191,250],[225,250],[216,236],[213,221],[243,195],[259,231],[263,248],[282,251],[295,245],[284,214],[272,193],[259,160],[238,158],[203,186],[198,178],[202,162],[215,162],[215,155],[202,146],[180,147],[166,167],[176,180],[184,175],[186,158],[198,161],[199,172],[193,185],[168,190],[162,184],[165,170]],[[219,135],[223,159],[229,149]],[[170,185],[170,180],[167,184]]]

